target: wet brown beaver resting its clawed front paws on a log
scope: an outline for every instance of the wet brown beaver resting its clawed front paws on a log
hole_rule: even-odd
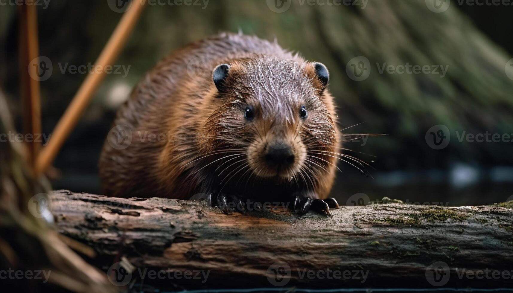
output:
[[[322,63],[256,36],[221,33],[175,51],[116,114],[99,162],[105,194],[329,214],[340,134],[328,80]]]

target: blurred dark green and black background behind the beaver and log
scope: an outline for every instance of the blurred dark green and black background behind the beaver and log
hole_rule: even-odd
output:
[[[54,161],[60,176],[53,188],[100,193],[98,155],[131,87],[173,50],[220,31],[242,31],[277,38],[282,47],[324,63],[343,127],[362,123],[346,133],[387,134],[371,136],[363,146],[361,141],[345,144],[356,151],[348,154],[376,170],[367,168],[370,175],[364,175],[339,163],[343,172],[332,194],[343,204],[387,196],[472,205],[512,196],[513,143],[459,142],[456,131],[513,136],[513,80],[505,72],[513,57],[513,6],[453,0],[446,11],[435,13],[424,0],[369,0],[365,9],[359,2],[301,3],[292,0],[283,13],[274,12],[265,0],[146,7],[115,62],[130,66],[128,75],[108,75],[96,92]],[[52,132],[85,79],[85,74],[61,72],[58,64],[94,64],[121,15],[107,0],[51,0],[46,9],[38,9],[40,55],[53,64],[52,76],[41,83],[44,133]],[[17,35],[16,7],[0,6],[0,87],[21,129]],[[364,81],[353,81],[346,73],[346,65],[357,56],[370,61]],[[444,77],[380,74],[376,63],[441,65],[448,71]],[[451,135],[440,150],[425,139],[435,125],[447,126]]]

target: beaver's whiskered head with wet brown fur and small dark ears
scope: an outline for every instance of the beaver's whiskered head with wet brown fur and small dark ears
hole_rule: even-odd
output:
[[[219,171],[232,169],[231,177],[250,172],[314,184],[312,177],[336,161],[330,155],[337,133],[326,105],[328,76],[321,63],[261,55],[216,66],[213,105],[207,103],[212,112],[200,130],[202,152],[219,151]]]

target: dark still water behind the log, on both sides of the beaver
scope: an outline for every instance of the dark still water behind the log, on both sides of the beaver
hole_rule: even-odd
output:
[[[485,205],[513,200],[513,168],[476,169],[459,165],[451,170],[371,172],[342,169],[331,196],[342,205],[366,203],[383,197],[417,204],[443,206]],[[96,174],[63,173],[54,189],[101,194]],[[348,202],[349,200],[349,202]],[[352,202],[352,203],[351,203]]]

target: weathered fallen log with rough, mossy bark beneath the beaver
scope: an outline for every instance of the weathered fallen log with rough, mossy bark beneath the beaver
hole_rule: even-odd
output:
[[[341,207],[326,217],[313,212],[297,216],[282,208],[227,216],[197,201],[65,190],[51,198],[58,230],[91,246],[99,256],[92,261],[104,269],[123,256],[139,268],[208,270],[205,284],[210,286],[272,287],[271,265],[283,261],[290,266],[279,270],[287,286],[433,287],[426,276],[429,266],[440,261],[450,268],[445,286],[512,284],[510,277],[466,277],[468,270],[513,269],[512,202],[475,207],[381,203]],[[362,270],[368,276],[365,282],[301,277],[305,269]],[[466,272],[465,277],[458,272]],[[205,285],[144,280],[159,282]]]

